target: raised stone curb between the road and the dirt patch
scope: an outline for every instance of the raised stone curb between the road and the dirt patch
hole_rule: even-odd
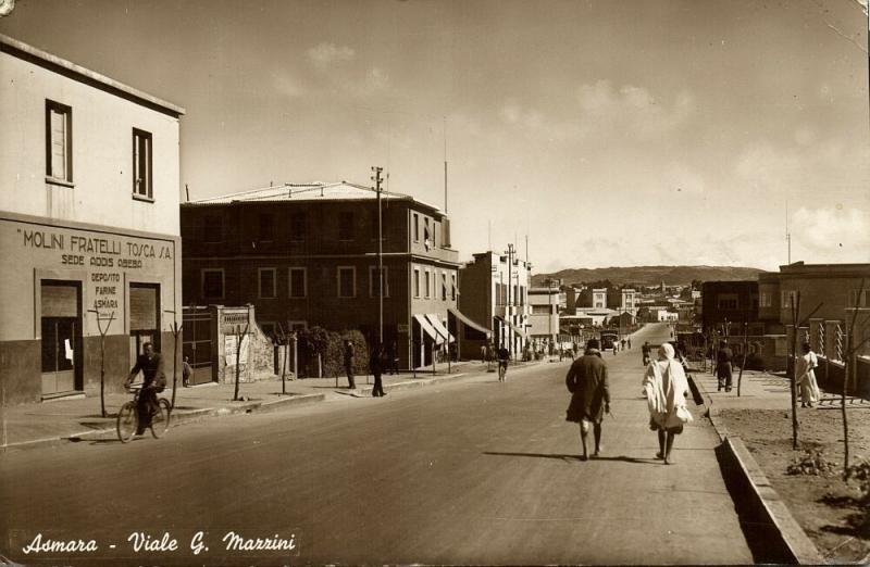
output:
[[[689,377],[689,386],[699,392],[707,405],[707,417],[722,442],[721,450],[724,453],[724,458],[735,465],[725,469],[720,463],[722,474],[735,474],[738,477],[736,479],[737,483],[741,487],[748,488],[748,490],[739,491],[739,495],[747,500],[746,504],[748,504],[751,513],[757,515],[762,524],[771,528],[770,536],[775,540],[770,542],[773,544],[772,547],[779,547],[787,563],[798,565],[820,565],[824,563],[824,558],[819,553],[816,544],[812,543],[812,540],[809,539],[794,518],[785,502],[771,486],[761,467],[749,453],[749,450],[746,449],[743,440],[729,433],[719,415],[719,408],[713,405],[704,383]],[[732,493],[732,497],[734,495]]]

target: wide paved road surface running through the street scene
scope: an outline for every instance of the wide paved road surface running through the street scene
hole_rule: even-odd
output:
[[[667,327],[645,329],[650,342]],[[639,396],[639,344],[611,369],[604,458],[580,462],[564,421],[568,364],[512,369],[386,399],[211,419],[127,445],[78,443],[4,455],[0,528],[18,551],[37,532],[94,538],[86,557],[136,556],[127,534],[169,531],[175,552],[149,564],[273,564],[223,550],[227,531],[295,534],[291,563],[751,563],[698,419],[676,441],[676,465],[655,461]],[[9,531],[9,530],[13,531]],[[108,549],[112,543],[117,547]],[[33,560],[28,555],[27,562]],[[287,562],[285,562],[287,563]]]

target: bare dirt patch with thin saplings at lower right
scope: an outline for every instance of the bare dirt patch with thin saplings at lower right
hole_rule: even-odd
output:
[[[795,519],[831,563],[870,560],[870,509],[855,484],[842,479],[843,423],[836,408],[798,410],[800,451],[792,450],[792,418],[779,410],[726,410],[720,413],[730,434],[743,439]],[[848,411],[849,454],[870,459],[870,408]],[[833,475],[790,475],[788,466],[807,457],[803,470]],[[821,465],[821,466],[816,466]]]

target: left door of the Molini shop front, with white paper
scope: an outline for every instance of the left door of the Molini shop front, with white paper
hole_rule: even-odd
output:
[[[42,395],[82,389],[82,293],[77,282],[41,284]]]

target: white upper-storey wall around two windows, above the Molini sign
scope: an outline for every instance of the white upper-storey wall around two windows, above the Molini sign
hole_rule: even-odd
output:
[[[0,211],[181,235],[177,116],[7,51],[0,77]],[[72,108],[72,188],[46,181],[47,99]],[[153,202],[133,199],[134,127],[152,135]]]

